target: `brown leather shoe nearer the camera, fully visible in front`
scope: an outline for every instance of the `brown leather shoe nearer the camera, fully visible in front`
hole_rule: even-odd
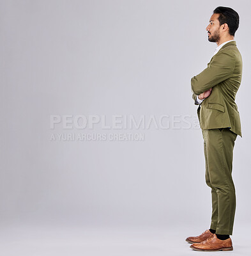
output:
[[[190,245],[195,251],[202,251],[202,252],[215,252],[215,251],[232,251],[232,240],[228,238],[226,240],[220,240],[217,238],[215,234],[210,236],[205,241],[199,244],[192,244]]]

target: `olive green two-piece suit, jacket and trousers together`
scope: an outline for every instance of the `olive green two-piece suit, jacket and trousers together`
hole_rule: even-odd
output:
[[[208,98],[197,109],[204,138],[206,184],[212,193],[211,227],[217,234],[232,234],[236,196],[232,181],[232,154],[241,122],[236,93],[242,74],[241,54],[236,42],[228,42],[215,54],[208,67],[192,77],[193,99],[209,88]]]

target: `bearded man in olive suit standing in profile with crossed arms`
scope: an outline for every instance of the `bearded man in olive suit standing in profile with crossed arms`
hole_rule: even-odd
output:
[[[239,15],[219,6],[206,27],[209,42],[217,43],[208,67],[192,77],[191,85],[204,139],[206,184],[211,188],[211,226],[197,237],[187,237],[199,251],[233,250],[232,235],[236,197],[232,181],[232,155],[241,124],[235,103],[241,83],[241,54],[234,41]]]

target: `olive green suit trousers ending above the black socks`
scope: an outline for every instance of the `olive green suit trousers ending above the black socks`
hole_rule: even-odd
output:
[[[211,229],[232,235],[236,196],[232,181],[232,156],[236,134],[229,128],[202,130],[206,184],[211,188]]]

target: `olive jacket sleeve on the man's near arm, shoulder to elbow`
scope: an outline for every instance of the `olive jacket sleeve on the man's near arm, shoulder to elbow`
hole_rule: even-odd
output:
[[[218,83],[228,79],[234,72],[236,59],[233,54],[220,51],[199,75],[192,77],[191,87],[195,95],[206,92]]]

